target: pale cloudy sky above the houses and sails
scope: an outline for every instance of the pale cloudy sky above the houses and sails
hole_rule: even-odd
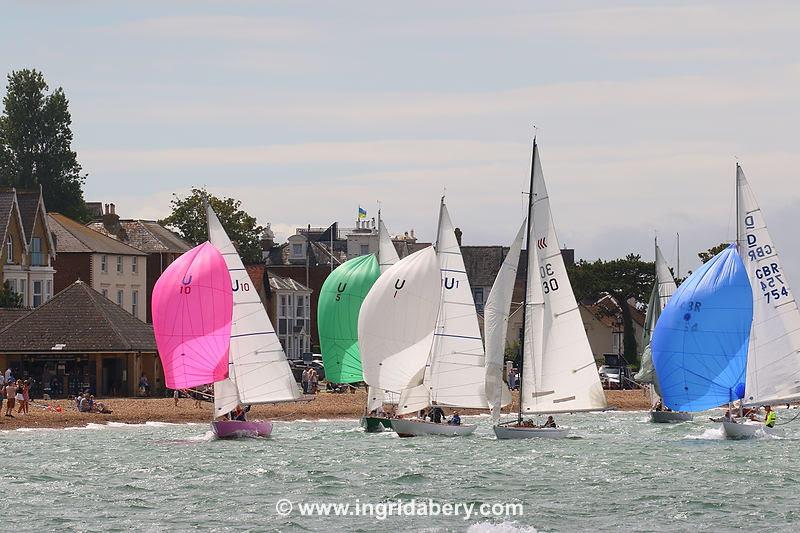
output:
[[[800,280],[800,4],[6,2],[4,72],[64,88],[89,201],[158,219],[238,198],[279,239],[352,226],[508,244],[536,127],[562,246],[659,236],[681,272],[735,237],[739,161]],[[2,82],[3,93],[5,81]],[[795,281],[795,284],[800,281]],[[796,285],[795,285],[796,286]]]

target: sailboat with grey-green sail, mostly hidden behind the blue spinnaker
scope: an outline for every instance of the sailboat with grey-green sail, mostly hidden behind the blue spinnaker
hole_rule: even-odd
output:
[[[653,348],[651,345],[651,337],[653,330],[658,322],[658,317],[669,302],[670,297],[673,295],[677,287],[675,286],[675,279],[672,277],[672,272],[669,271],[667,261],[658,247],[658,239],[655,239],[656,249],[656,281],[653,284],[653,290],[650,292],[650,301],[647,304],[647,315],[644,320],[644,329],[642,331],[642,365],[639,372],[633,378],[639,383],[649,383],[650,398],[652,405],[657,405],[661,398],[661,390],[658,386],[658,377],[656,376],[656,369],[653,366]],[[685,411],[665,411],[650,409],[650,421],[657,424],[669,424],[676,422],[687,422],[692,419],[692,414]]]

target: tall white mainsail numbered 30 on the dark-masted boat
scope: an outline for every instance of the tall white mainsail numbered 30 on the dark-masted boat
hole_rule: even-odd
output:
[[[535,388],[523,390],[523,410],[556,413],[605,409],[605,394],[561,256],[535,144],[531,193],[533,207],[528,248],[534,250],[537,264],[529,263],[528,285],[538,285],[544,305],[540,307],[541,363],[534,353]],[[530,267],[535,270],[531,271]],[[530,315],[537,314],[535,301],[531,311]],[[536,336],[535,330],[532,333]],[[527,342],[528,338],[525,340]],[[525,385],[527,381],[523,387]]]

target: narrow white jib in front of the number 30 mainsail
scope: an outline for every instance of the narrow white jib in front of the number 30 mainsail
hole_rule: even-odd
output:
[[[508,319],[514,282],[517,279],[522,239],[525,237],[525,220],[511,243],[500,271],[486,299],[483,311],[483,330],[486,335],[486,400],[492,410],[492,418],[500,418],[500,408],[511,403],[511,393],[503,381]]]

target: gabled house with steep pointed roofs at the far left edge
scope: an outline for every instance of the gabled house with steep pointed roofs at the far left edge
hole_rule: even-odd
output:
[[[23,307],[38,307],[53,296],[56,248],[42,191],[0,190],[2,281],[22,297]]]

